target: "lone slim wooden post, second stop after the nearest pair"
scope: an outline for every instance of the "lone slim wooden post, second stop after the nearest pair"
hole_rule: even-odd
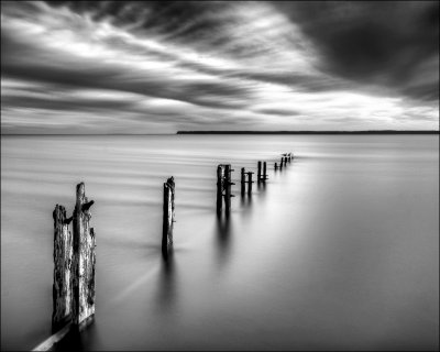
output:
[[[164,213],[163,213],[163,228],[162,228],[162,252],[167,255],[168,250],[173,246],[173,229],[175,217],[175,183],[174,177],[169,177],[164,183]]]

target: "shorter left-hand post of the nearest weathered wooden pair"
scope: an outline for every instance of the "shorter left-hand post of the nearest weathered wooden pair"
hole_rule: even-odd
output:
[[[72,318],[72,233],[66,209],[56,205],[54,217],[54,284],[52,289],[52,331],[63,328]]]

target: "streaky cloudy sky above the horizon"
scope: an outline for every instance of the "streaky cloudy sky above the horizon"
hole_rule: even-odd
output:
[[[439,130],[438,1],[1,1],[1,133]]]

